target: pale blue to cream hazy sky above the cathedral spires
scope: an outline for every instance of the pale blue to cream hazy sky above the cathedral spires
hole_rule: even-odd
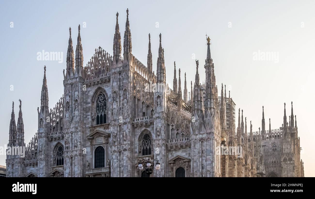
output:
[[[18,100],[22,100],[26,144],[37,132],[44,65],[47,67],[49,107],[53,108],[62,96],[69,26],[75,50],[77,26],[81,25],[86,65],[99,46],[113,54],[116,12],[123,39],[127,8],[132,53],[146,65],[148,34],[151,33],[154,71],[158,35],[162,33],[166,77],[171,88],[174,61],[176,68],[181,69],[182,89],[184,72],[188,91],[190,81],[195,80],[194,57],[199,60],[200,79],[205,79],[207,33],[212,43],[211,56],[219,94],[221,83],[226,84],[236,109],[243,109],[247,117],[248,129],[250,120],[253,131],[261,127],[262,106],[266,129],[269,118],[272,129],[279,128],[283,123],[284,102],[289,121],[293,101],[305,176],[315,176],[315,136],[311,128],[315,98],[314,1],[1,1],[0,147],[8,144],[12,101],[17,122]],[[42,50],[63,52],[63,62],[37,60],[37,52]],[[255,55],[264,53],[275,56],[272,60],[255,59]],[[5,159],[5,155],[0,155],[0,165],[5,165]]]

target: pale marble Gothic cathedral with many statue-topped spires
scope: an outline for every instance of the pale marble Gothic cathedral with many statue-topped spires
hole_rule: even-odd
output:
[[[99,47],[86,66],[80,26],[75,54],[69,29],[63,95],[49,108],[45,66],[38,131],[28,144],[22,101],[17,124],[13,102],[8,147],[25,147],[26,155],[7,151],[8,177],[148,177],[140,159],[156,158],[160,169],[151,177],[304,177],[292,103],[289,121],[284,104],[279,129],[271,129],[270,119],[266,129],[262,109],[254,132],[243,110],[236,123],[223,84],[218,93],[209,37],[206,80],[201,84],[196,60],[190,92],[185,73],[182,93],[175,62],[173,88],[166,83],[161,34],[154,73],[150,34],[145,66],[132,54],[128,9],[123,49],[116,16],[113,54]]]

